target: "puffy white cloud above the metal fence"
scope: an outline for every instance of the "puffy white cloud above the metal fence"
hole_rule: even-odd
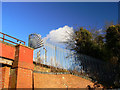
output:
[[[43,38],[43,40],[57,43],[66,42],[68,39],[70,39],[71,34],[73,34],[73,27],[65,25],[64,27],[50,31],[50,33]]]

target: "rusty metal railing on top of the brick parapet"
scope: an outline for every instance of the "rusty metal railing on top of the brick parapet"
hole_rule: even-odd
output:
[[[16,43],[16,42],[19,42],[19,43],[23,43],[23,45],[25,45],[25,42],[22,41],[22,40],[19,40],[19,39],[17,39],[17,38],[14,38],[14,37],[12,37],[12,36],[10,36],[10,35],[7,35],[7,34],[4,34],[4,33],[2,33],[2,32],[0,32],[0,34],[2,34],[2,37],[0,37],[0,39],[2,39],[3,42],[4,42],[4,41],[8,41],[8,42],[11,42],[11,43],[14,43],[14,44],[18,44],[18,43]],[[10,38],[16,40],[16,42],[6,39],[5,36],[10,37]]]

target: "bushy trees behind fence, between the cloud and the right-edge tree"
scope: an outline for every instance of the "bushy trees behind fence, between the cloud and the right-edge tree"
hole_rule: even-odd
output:
[[[102,59],[101,55],[104,54],[104,50],[102,48],[104,47],[103,39],[104,37],[102,35],[98,35],[94,38],[93,33],[86,29],[80,28],[78,31],[74,32],[72,41],[70,39],[70,41],[66,44],[67,48],[75,51],[77,54],[85,54]]]

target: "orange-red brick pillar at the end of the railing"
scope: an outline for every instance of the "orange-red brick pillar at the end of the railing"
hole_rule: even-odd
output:
[[[13,68],[17,71],[16,88],[32,88],[33,49],[24,45],[16,46]]]

